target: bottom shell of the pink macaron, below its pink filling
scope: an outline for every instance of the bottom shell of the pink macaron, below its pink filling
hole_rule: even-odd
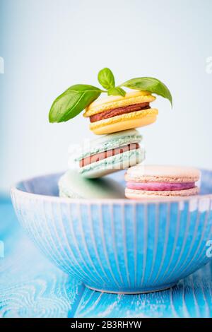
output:
[[[192,189],[175,190],[175,191],[145,191],[135,189],[125,189],[126,198],[142,199],[142,198],[158,198],[158,197],[181,197],[194,196],[199,193],[199,188],[195,186]]]

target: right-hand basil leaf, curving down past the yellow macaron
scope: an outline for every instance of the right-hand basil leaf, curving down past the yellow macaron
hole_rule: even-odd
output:
[[[129,81],[120,84],[126,86],[127,88],[136,89],[136,90],[146,90],[156,95],[161,95],[162,97],[167,98],[172,105],[172,95],[167,86],[159,81],[157,78],[153,77],[140,77],[132,78]]]

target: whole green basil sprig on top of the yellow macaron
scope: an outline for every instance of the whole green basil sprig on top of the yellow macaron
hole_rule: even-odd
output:
[[[121,95],[124,97],[126,88],[148,91],[155,93],[170,100],[172,105],[172,95],[167,86],[159,81],[157,78],[141,77],[133,78],[120,85],[115,86],[114,75],[109,68],[104,68],[98,73],[98,81],[106,90],[101,90],[93,85],[76,84],[72,85],[68,90],[59,95],[54,100],[49,111],[49,122],[63,122],[76,117],[83,111],[91,102],[96,100],[101,93],[107,95]]]

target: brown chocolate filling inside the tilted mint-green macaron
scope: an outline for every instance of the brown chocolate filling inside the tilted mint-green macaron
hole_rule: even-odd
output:
[[[139,148],[139,143],[131,143],[131,144],[128,144],[127,146],[120,146],[119,148],[114,148],[111,150],[96,153],[95,155],[89,155],[88,157],[80,160],[79,164],[80,164],[80,167],[84,167],[86,165],[92,164],[93,162],[97,162],[99,160],[103,160],[108,157],[112,157],[112,155],[118,155],[119,153],[124,153],[129,150],[136,150],[138,148]]]

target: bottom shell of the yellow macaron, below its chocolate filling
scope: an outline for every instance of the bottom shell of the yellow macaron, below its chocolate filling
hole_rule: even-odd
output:
[[[111,134],[126,129],[139,128],[153,124],[158,115],[158,109],[145,109],[143,111],[131,112],[117,115],[109,119],[93,122],[90,130],[96,135]]]

